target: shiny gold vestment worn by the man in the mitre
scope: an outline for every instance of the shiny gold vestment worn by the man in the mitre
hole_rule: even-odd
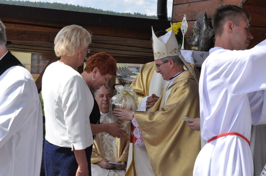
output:
[[[135,117],[154,174],[192,175],[201,137],[182,117],[200,117],[198,85],[191,72],[186,71],[168,89],[171,91],[164,105],[166,92],[148,112],[135,112]]]

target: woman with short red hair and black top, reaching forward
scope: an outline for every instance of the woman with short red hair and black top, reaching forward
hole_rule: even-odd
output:
[[[101,86],[107,86],[108,81],[116,76],[117,65],[116,60],[106,53],[97,53],[88,58],[86,67],[81,73],[81,76],[85,80],[87,86],[91,89],[92,94],[96,89],[100,89]],[[100,109],[94,98],[94,106],[90,115],[91,129],[93,137],[102,132],[106,132],[113,137],[124,137],[125,130],[122,129],[122,124],[117,123],[101,123]],[[92,151],[93,145],[90,146]]]

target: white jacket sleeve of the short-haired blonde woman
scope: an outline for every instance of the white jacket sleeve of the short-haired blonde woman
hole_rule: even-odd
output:
[[[67,136],[75,149],[86,148],[86,100],[84,84],[78,75],[72,77],[62,91],[62,108]]]

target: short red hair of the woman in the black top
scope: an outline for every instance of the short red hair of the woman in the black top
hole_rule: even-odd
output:
[[[116,76],[117,65],[116,60],[107,53],[97,53],[88,58],[84,71],[90,73],[97,67],[101,75],[110,74]]]

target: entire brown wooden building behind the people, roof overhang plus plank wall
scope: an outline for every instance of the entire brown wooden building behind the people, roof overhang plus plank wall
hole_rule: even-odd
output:
[[[186,14],[188,21],[187,41],[194,22],[206,11],[211,24],[214,10],[225,4],[232,4],[251,14],[251,33],[254,39],[250,46],[266,38],[266,3],[264,0],[173,0],[172,22],[182,21]],[[53,40],[64,26],[78,24],[93,32],[91,53],[106,52],[118,63],[144,64],[153,61],[150,43],[151,26],[154,31],[170,27],[170,21],[73,12],[45,8],[33,8],[0,4],[0,19],[7,30],[8,49],[16,52],[39,53],[42,59],[52,63]],[[88,55],[88,56],[90,56]],[[79,68],[82,72],[83,68]],[[41,90],[41,76],[36,81]]]

